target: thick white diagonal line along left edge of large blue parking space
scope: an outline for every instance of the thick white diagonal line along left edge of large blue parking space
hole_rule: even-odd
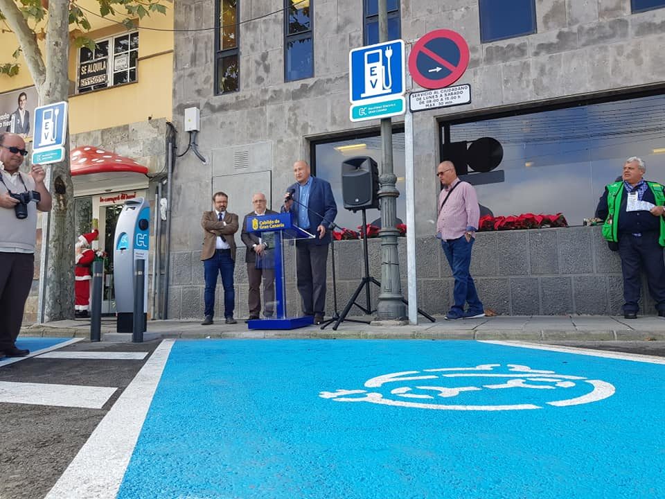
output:
[[[44,499],[118,495],[174,341],[159,344]]]

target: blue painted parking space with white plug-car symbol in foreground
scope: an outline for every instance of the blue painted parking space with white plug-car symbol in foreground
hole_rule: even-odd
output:
[[[466,341],[178,340],[118,498],[662,498],[665,365]]]

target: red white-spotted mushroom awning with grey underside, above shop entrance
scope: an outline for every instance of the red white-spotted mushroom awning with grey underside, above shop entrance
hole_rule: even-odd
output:
[[[108,193],[148,186],[148,168],[134,159],[93,146],[80,146],[69,155],[75,195]]]

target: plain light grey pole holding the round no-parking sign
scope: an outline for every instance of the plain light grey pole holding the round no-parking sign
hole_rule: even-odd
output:
[[[416,279],[416,189],[414,182],[414,115],[404,117],[404,161],[407,195],[407,279],[409,323],[418,324],[418,280]]]

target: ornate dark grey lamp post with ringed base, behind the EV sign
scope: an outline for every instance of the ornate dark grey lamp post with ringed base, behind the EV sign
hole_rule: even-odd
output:
[[[387,0],[378,0],[379,11],[379,42],[388,41],[388,6]],[[381,120],[381,147],[382,161],[379,176],[380,189],[378,192],[381,207],[381,292],[377,305],[379,320],[401,320],[406,316],[405,305],[402,301],[402,283],[400,281],[400,263],[397,252],[398,229],[397,198],[400,195],[396,189],[397,177],[393,173],[393,130],[392,120]],[[413,228],[411,228],[413,230]]]

